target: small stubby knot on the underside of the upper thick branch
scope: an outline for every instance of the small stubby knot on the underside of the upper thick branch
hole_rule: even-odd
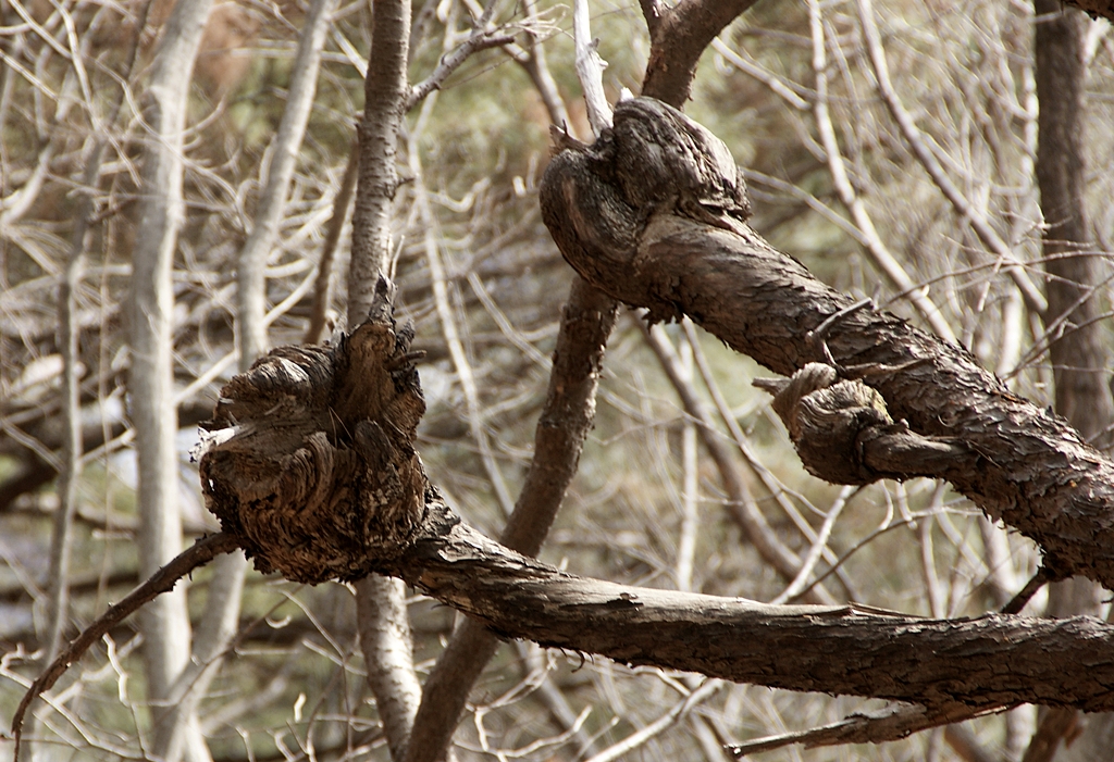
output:
[[[877,389],[841,380],[830,365],[809,363],[788,380],[758,378],[754,386],[774,395],[773,409],[804,467],[832,484],[946,477],[971,454],[960,442],[895,422]]]

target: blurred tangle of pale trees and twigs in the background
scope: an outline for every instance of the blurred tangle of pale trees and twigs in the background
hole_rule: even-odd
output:
[[[221,385],[267,344],[344,325],[351,234],[333,226],[350,204],[372,24],[367,2],[323,0],[2,8],[9,718],[60,640],[183,536],[216,528],[188,451]],[[608,96],[637,91],[649,50],[639,6],[590,9]],[[505,43],[473,52],[402,122],[391,238],[398,301],[428,353],[422,456],[455,507],[498,536],[530,462],[573,279],[537,208],[548,127],[590,129],[570,10],[540,0],[489,10]],[[483,12],[416,2],[411,81],[434,72]],[[314,77],[306,51],[320,57]],[[968,347],[1098,446],[1114,424],[1112,110],[1110,24],[1003,0],[764,0],[713,42],[686,105],[746,169],[755,229],[834,287]],[[1052,115],[1063,131],[1047,126]],[[1063,137],[1040,139],[1049,135]],[[166,229],[177,234],[168,247]],[[237,278],[256,279],[254,306],[237,297]],[[255,320],[255,338],[237,320]],[[1032,544],[946,485],[854,491],[808,476],[750,387],[758,372],[690,325],[646,330],[620,314],[595,429],[543,557],[620,582],[938,617],[998,608],[1022,587]],[[755,533],[792,563],[770,563]],[[177,613],[114,632],[40,705],[35,754],[389,759],[352,588],[248,571],[241,598],[242,566],[205,570],[160,604]],[[1049,605],[1106,613],[1089,590],[1042,594],[1027,612]],[[423,676],[455,614],[421,597],[408,606]],[[159,664],[173,669],[159,676]],[[724,742],[870,705],[510,643],[472,691],[455,749],[460,759],[721,760]],[[158,730],[168,712],[173,738]],[[1102,725],[1089,722],[1084,739]],[[1046,730],[1058,741],[1069,724]],[[1020,707],[878,748],[769,758],[1019,760],[1036,728],[1035,710]]]

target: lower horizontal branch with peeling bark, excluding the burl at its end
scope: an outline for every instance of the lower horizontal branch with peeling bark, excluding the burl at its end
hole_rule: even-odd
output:
[[[438,499],[429,511],[400,571],[505,637],[627,664],[934,707],[1114,706],[1114,627],[1095,618],[921,620],[627,587],[510,553]]]

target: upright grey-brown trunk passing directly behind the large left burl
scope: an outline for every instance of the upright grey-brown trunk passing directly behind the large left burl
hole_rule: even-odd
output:
[[[394,161],[403,102],[409,92],[410,0],[377,0],[372,9],[374,29],[359,131],[360,177],[348,280],[350,329],[368,317],[375,283],[393,270],[391,207],[399,185]],[[405,586],[399,580],[371,575],[355,583],[355,592],[368,685],[375,696],[391,758],[401,761],[421,701],[421,684],[413,669]]]

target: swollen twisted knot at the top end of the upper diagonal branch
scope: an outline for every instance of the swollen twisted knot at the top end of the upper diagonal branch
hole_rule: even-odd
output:
[[[565,259],[612,296],[678,317],[667,301],[644,305],[639,278],[653,274],[638,271],[638,237],[661,215],[724,229],[746,221],[746,185],[726,145],[653,98],[619,101],[613,126],[590,146],[556,129],[554,142],[539,200]]]

